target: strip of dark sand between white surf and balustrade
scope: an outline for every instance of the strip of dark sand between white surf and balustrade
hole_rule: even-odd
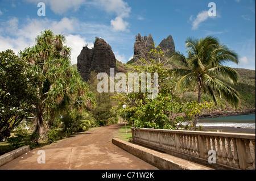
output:
[[[255,134],[255,128],[203,127],[201,131]]]

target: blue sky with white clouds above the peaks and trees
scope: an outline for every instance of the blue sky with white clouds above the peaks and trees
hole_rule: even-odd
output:
[[[38,16],[38,3],[46,16]],[[210,2],[216,16],[209,16]],[[216,36],[240,56],[233,68],[255,70],[255,0],[0,0],[0,51],[16,53],[35,43],[41,31],[63,33],[72,48],[72,64],[84,45],[101,37],[115,57],[133,57],[135,35],[151,33],[156,45],[172,35],[176,50],[186,53],[187,37]]]

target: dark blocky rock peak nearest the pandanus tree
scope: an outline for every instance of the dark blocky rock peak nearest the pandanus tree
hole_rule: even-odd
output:
[[[103,39],[96,38],[94,48],[84,47],[77,57],[77,70],[80,72],[84,81],[88,81],[90,73],[108,73],[109,69],[116,69],[115,55],[112,48]]]

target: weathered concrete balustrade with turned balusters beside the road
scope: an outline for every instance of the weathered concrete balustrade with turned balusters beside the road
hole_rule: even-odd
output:
[[[214,169],[255,169],[255,134],[132,128],[133,142]]]

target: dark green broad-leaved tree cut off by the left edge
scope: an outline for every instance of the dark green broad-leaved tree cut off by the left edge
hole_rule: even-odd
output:
[[[35,79],[38,75],[13,50],[0,52],[0,141],[34,112]]]

